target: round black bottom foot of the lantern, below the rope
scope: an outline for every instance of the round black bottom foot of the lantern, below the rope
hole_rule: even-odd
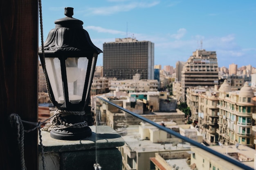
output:
[[[89,126],[84,128],[67,128],[65,130],[51,130],[50,136],[59,140],[82,140],[92,135]]]

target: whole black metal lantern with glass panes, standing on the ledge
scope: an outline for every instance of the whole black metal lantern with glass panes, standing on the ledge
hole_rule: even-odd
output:
[[[79,140],[91,135],[84,121],[97,56],[83,22],[72,18],[73,8],[65,8],[65,18],[56,20],[39,47],[39,57],[46,77],[49,98],[57,108],[50,135],[55,139]]]

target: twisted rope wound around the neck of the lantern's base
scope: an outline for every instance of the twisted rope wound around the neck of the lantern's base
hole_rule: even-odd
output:
[[[78,122],[75,124],[67,123],[63,117],[68,115],[85,115],[85,111],[67,111],[57,109],[54,113],[52,121],[47,123],[42,130],[50,132],[51,130],[65,130],[66,128],[84,128],[88,126],[86,121]]]

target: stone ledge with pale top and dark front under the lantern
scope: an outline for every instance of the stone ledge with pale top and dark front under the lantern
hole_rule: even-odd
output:
[[[124,139],[109,126],[90,128],[92,136],[79,141],[53,139],[49,132],[42,131],[46,169],[94,170],[97,159],[104,170],[121,170],[122,157],[116,147],[123,146]],[[38,150],[39,170],[43,170],[40,146]]]

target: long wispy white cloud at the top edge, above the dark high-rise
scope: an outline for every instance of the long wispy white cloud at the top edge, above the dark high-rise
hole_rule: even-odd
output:
[[[150,3],[146,2],[131,2],[129,4],[119,4],[111,7],[97,7],[97,8],[89,8],[89,13],[93,15],[111,15],[113,13],[130,11],[136,8],[150,8],[159,4],[159,1],[154,1]]]

